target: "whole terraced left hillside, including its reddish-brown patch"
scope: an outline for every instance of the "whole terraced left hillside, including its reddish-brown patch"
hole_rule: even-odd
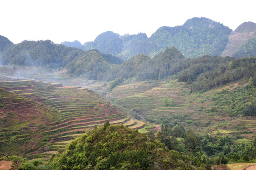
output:
[[[24,78],[0,79],[1,153],[33,158],[62,152],[71,139],[106,121],[145,127],[89,89]]]

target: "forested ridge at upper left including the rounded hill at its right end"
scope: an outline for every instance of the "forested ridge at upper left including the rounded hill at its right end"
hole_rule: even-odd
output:
[[[7,38],[5,38],[5,40],[6,39]],[[8,43],[0,44],[4,46],[4,44]],[[54,44],[50,40],[37,42],[25,40],[18,44],[10,44],[8,47],[9,48],[4,48],[2,53],[0,53],[1,64],[20,66],[36,65],[46,68],[67,67],[69,73],[75,76],[79,76],[85,73],[85,71],[85,75],[94,75],[94,72],[99,74],[113,67],[113,64],[122,64],[123,62],[121,59],[111,54],[105,55],[97,50],[84,51],[74,47],[66,47],[61,44]],[[78,64],[76,63],[77,61],[81,61],[79,66],[76,65]],[[74,66],[72,66],[72,64],[74,64]],[[80,71],[76,70],[77,68],[79,68]],[[82,71],[81,68],[83,68]],[[90,77],[96,79],[96,76]]]

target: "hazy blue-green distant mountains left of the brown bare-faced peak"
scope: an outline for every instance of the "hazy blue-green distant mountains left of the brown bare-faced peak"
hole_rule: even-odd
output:
[[[145,34],[120,36],[113,32],[100,34],[94,42],[86,42],[85,50],[98,49],[123,60],[144,53],[153,57],[166,47],[174,46],[188,58],[201,55],[220,55],[231,29],[208,18],[191,18],[183,26],[162,26],[151,37]]]

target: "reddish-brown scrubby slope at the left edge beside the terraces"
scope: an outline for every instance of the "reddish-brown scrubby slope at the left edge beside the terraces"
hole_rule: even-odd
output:
[[[3,90],[2,82],[6,80],[0,78],[0,153],[25,156],[44,145],[40,132],[59,121],[60,116],[47,106]],[[18,83],[22,80],[16,81]]]

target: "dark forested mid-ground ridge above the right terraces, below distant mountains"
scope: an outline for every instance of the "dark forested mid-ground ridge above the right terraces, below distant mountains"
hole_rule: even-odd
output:
[[[122,81],[125,78],[161,80],[170,77],[191,85],[191,92],[207,91],[234,81],[248,81],[256,85],[256,57],[234,58],[204,55],[185,59],[175,47],[150,58],[138,54],[122,65],[98,76],[99,80]]]

